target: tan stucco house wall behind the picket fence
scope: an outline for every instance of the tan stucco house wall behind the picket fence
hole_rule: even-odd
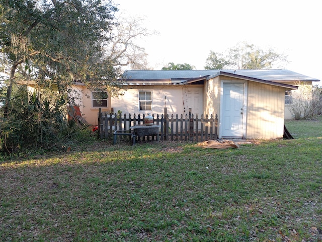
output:
[[[112,108],[114,112],[119,110],[122,115],[134,113],[142,115],[151,114],[163,114],[164,108],[167,107],[167,112],[169,115],[178,114],[185,115],[189,114],[189,108],[195,105],[193,100],[187,99],[188,90],[193,90],[194,88],[200,89],[200,100],[203,100],[203,86],[202,85],[178,85],[178,86],[167,86],[167,85],[146,85],[146,86],[130,86],[128,89],[124,90],[124,95],[119,97],[108,98],[108,108],[102,108],[102,111],[110,111]],[[151,111],[139,111],[139,101],[138,92],[139,91],[152,91],[152,110]],[[91,125],[98,124],[97,114],[99,108],[92,107],[91,91],[85,86],[75,85],[73,86],[73,94],[75,97],[75,102],[79,105],[79,109],[83,114],[83,117]],[[192,110],[193,113],[202,112],[202,103],[200,103],[200,108]]]

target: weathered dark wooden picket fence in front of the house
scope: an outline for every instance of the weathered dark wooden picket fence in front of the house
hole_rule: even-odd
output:
[[[112,114],[109,112],[102,112],[101,109],[98,113],[98,133],[100,139],[107,139],[113,136],[115,130],[128,131],[134,125],[144,124],[144,114]],[[178,114],[167,114],[165,108],[164,114],[152,114],[153,124],[160,125],[159,139],[160,140],[181,140],[181,141],[205,141],[217,139],[218,117],[211,114],[210,116],[198,115],[191,113],[180,116]],[[151,136],[154,139],[153,136]],[[139,139],[139,138],[138,138]],[[145,140],[145,137],[142,137]],[[147,137],[149,140],[150,137]]]

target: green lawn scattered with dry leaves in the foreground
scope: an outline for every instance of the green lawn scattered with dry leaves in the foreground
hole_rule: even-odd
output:
[[[97,141],[0,161],[0,240],[322,241],[322,119],[286,127],[294,140],[238,149]]]

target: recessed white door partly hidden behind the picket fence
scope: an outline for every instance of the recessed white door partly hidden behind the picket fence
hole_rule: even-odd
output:
[[[189,108],[191,108],[194,117],[198,114],[198,118],[200,118],[202,113],[202,87],[185,87],[183,95],[184,115],[186,113],[189,115]]]

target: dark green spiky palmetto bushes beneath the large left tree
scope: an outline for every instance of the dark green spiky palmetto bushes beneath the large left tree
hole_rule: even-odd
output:
[[[10,115],[0,120],[1,150],[54,148],[71,139],[78,127],[74,120],[66,120],[66,103],[62,97],[28,93],[19,86]]]

